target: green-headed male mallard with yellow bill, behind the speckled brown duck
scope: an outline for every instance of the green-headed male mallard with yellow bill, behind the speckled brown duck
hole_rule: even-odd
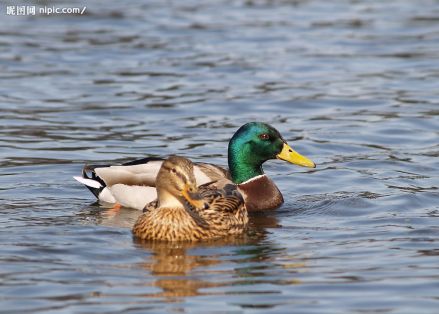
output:
[[[229,171],[212,164],[196,163],[195,179],[198,185],[229,179],[244,197],[247,210],[274,209],[282,205],[283,197],[264,174],[262,164],[276,158],[315,167],[314,162],[295,152],[275,128],[262,122],[250,122],[241,126],[229,142]],[[156,177],[162,163],[163,159],[144,158],[117,166],[90,165],[84,167],[82,177],[75,179],[85,184],[100,201],[143,209],[157,197]],[[91,176],[87,172],[91,172]]]

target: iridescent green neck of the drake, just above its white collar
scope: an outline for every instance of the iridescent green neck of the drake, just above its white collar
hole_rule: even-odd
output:
[[[241,184],[264,174],[262,162],[245,150],[235,149],[233,146],[229,146],[228,161],[230,175],[235,184]]]

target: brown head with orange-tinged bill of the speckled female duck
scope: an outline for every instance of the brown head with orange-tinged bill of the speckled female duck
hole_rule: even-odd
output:
[[[187,158],[166,159],[157,174],[156,187],[160,207],[182,208],[185,202],[200,209],[207,207],[198,193],[194,165]]]

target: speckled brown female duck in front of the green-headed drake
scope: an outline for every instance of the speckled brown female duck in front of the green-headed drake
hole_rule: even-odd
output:
[[[237,187],[197,187],[194,166],[186,158],[166,159],[156,178],[157,201],[148,204],[133,227],[144,240],[200,241],[240,234],[248,223]]]

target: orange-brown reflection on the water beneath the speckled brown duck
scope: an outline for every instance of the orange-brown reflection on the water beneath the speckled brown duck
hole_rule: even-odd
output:
[[[266,228],[278,225],[274,215],[257,215],[255,218],[245,234],[220,240],[160,242],[134,239],[137,247],[152,253],[140,264],[140,267],[155,278],[152,285],[161,290],[152,296],[163,297],[167,302],[177,302],[182,297],[207,294],[202,291],[204,288],[234,285],[237,277],[251,281],[251,267],[240,267],[240,264],[264,262],[273,258],[270,254],[273,251],[269,248],[270,244],[262,242],[267,236]],[[230,255],[237,258],[225,261],[224,257]],[[225,266],[228,270],[224,270],[220,266],[224,263],[237,265]],[[217,269],[212,270],[216,265]],[[210,270],[203,271],[206,267]],[[218,273],[221,273],[221,277],[217,277]],[[240,281],[240,284],[242,283]]]

